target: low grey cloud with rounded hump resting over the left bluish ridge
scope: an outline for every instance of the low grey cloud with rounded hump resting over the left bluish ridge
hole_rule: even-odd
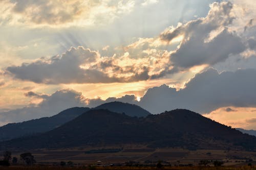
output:
[[[0,125],[52,116],[67,108],[86,106],[83,95],[71,89],[58,90],[51,95],[28,92],[26,96],[36,96],[36,98],[39,97],[43,100],[38,105],[32,104],[24,108],[0,113]]]

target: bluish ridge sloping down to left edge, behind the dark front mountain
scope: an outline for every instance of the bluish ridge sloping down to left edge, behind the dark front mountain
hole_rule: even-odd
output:
[[[69,122],[78,115],[88,111],[87,107],[74,107],[63,110],[51,117],[42,117],[22,123],[12,123],[0,127],[0,140],[8,140],[38,132],[47,132]]]

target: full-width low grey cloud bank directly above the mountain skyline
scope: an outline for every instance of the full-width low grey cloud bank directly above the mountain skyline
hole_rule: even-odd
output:
[[[208,69],[197,74],[179,91],[167,85],[149,88],[140,101],[137,101],[135,95],[124,95],[120,98],[102,100],[100,98],[88,99],[74,90],[58,90],[48,96],[30,91],[26,93],[27,96],[41,98],[42,102],[38,105],[1,113],[0,120],[1,122],[17,122],[29,118],[53,115],[69,107],[95,107],[113,101],[136,104],[151,113],[183,108],[212,115],[213,112],[217,112],[221,108],[218,112],[237,115],[241,110],[237,108],[250,107],[254,108],[251,110],[255,110],[256,96],[253,93],[256,90],[255,75],[256,69],[238,69],[221,73],[215,69]]]

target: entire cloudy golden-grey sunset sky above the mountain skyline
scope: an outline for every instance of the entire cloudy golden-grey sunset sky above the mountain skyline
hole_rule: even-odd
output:
[[[121,101],[256,130],[251,0],[0,1],[0,126]]]

